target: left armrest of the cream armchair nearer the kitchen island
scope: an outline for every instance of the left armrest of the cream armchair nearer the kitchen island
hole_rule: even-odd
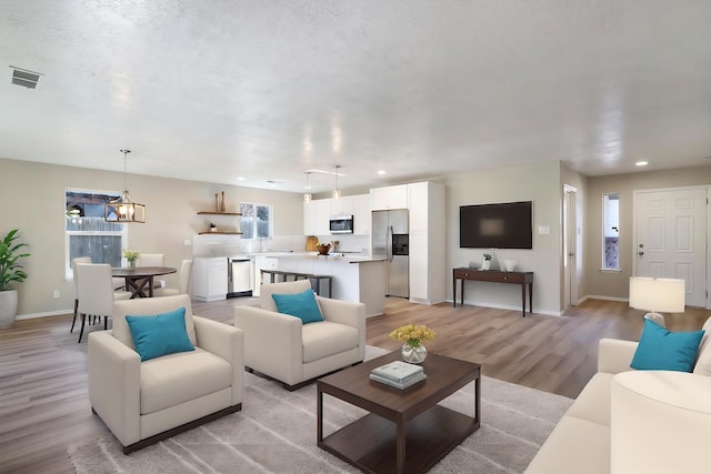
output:
[[[244,331],[244,365],[288,384],[301,382],[301,320],[253,306],[234,307],[234,326]]]

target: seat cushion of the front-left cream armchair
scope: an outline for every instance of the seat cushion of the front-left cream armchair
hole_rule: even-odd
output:
[[[200,347],[150,360],[141,364],[141,415],[219,392],[231,383],[230,363]]]

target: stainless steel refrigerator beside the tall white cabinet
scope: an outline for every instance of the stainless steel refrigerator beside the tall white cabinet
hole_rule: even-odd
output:
[[[408,211],[373,211],[374,258],[387,259],[385,295],[410,297],[410,235]]]

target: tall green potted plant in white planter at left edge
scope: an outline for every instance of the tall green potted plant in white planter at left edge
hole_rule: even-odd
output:
[[[14,322],[18,314],[18,291],[10,289],[10,283],[21,283],[27,279],[24,268],[19,260],[30,256],[29,253],[21,253],[27,243],[16,243],[19,239],[18,229],[11,230],[2,241],[0,241],[0,327],[9,327]]]

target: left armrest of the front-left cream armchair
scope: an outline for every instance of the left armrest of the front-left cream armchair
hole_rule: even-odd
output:
[[[108,332],[89,333],[89,402],[122,445],[141,440],[141,357]]]

